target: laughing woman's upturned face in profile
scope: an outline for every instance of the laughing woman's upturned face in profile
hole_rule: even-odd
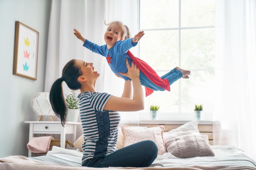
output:
[[[100,77],[100,74],[97,71],[94,71],[93,63],[86,63],[83,60],[76,60],[76,64],[80,66],[83,74],[78,79],[80,81],[94,81]]]

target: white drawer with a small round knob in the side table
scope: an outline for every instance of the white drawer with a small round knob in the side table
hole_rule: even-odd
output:
[[[60,132],[61,124],[34,123],[34,132]]]

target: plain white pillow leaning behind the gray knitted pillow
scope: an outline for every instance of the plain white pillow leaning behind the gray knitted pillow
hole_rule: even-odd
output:
[[[181,137],[184,135],[198,135],[199,130],[197,128],[197,120],[185,123],[176,129],[172,129],[168,132],[164,132],[163,138],[164,143],[166,143],[170,139],[174,139],[175,137]]]

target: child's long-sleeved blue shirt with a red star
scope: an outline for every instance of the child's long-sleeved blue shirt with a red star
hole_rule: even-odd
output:
[[[105,56],[111,70],[125,80],[129,80],[130,78],[122,76],[119,73],[126,73],[128,71],[125,59],[128,59],[128,63],[130,65],[132,63],[132,59],[126,54],[126,52],[137,44],[138,42],[132,44],[132,38],[129,38],[123,41],[117,41],[113,47],[108,49],[107,44],[99,46],[86,39],[83,46],[90,49],[92,52]]]

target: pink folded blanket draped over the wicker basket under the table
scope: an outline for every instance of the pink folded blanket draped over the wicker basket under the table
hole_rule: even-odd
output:
[[[49,151],[51,140],[54,139],[51,136],[46,137],[32,137],[28,144],[28,150],[33,153],[44,153]]]

